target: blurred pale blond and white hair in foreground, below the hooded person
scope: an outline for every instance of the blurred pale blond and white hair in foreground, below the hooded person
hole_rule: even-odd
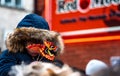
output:
[[[72,68],[64,64],[58,67],[51,63],[37,62],[29,65],[15,65],[9,72],[10,76],[83,76],[79,71],[73,71]]]

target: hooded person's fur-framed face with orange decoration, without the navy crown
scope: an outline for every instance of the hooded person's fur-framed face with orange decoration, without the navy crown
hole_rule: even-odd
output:
[[[8,35],[6,46],[10,52],[14,53],[29,50],[29,54],[36,56],[40,52],[42,53],[40,56],[49,60],[54,60],[55,56],[60,55],[64,49],[59,33],[34,27],[16,28]]]

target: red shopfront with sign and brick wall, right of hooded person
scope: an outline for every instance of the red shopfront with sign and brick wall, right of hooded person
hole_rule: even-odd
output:
[[[65,53],[60,59],[65,63],[85,69],[90,59],[110,64],[111,56],[120,56],[120,2],[109,1],[45,0],[43,16],[51,30],[63,36]]]

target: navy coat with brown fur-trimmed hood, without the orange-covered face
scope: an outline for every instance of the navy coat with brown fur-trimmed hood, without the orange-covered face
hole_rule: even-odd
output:
[[[60,34],[48,30],[48,23],[42,17],[36,14],[25,16],[17,28],[6,39],[8,50],[3,51],[0,55],[0,76],[8,76],[8,72],[14,65],[21,64],[22,62],[29,64],[37,59],[37,57],[33,59],[27,53],[27,42],[41,43],[44,40],[50,40],[58,48],[56,55],[62,53],[63,43]],[[42,58],[41,61],[51,62],[46,58]]]

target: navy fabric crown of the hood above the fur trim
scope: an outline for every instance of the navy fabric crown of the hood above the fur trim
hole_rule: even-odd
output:
[[[34,27],[49,30],[49,25],[46,20],[37,14],[26,15],[17,25],[17,28],[21,27]]]

